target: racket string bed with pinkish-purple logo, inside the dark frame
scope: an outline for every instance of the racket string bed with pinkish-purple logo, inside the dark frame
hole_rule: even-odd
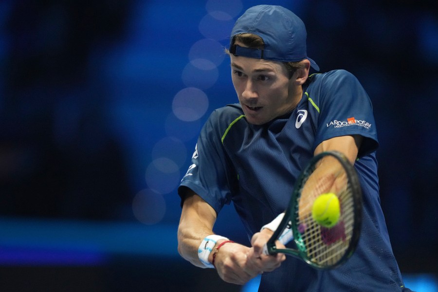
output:
[[[351,194],[351,186],[347,180],[347,173],[344,167],[338,163],[341,169],[336,172],[336,177],[323,178],[318,182],[303,182],[302,189],[312,189],[311,195],[300,202],[298,206],[307,206],[306,214],[303,210],[296,210],[296,219],[300,237],[302,240],[302,252],[305,257],[319,266],[333,266],[338,263],[346,254],[354,227],[354,206]],[[311,169],[310,172],[313,172]],[[301,190],[303,191],[303,190]],[[341,214],[337,224],[331,228],[323,227],[310,216],[309,206],[321,194],[333,192],[340,202]],[[301,198],[302,199],[302,198]]]

